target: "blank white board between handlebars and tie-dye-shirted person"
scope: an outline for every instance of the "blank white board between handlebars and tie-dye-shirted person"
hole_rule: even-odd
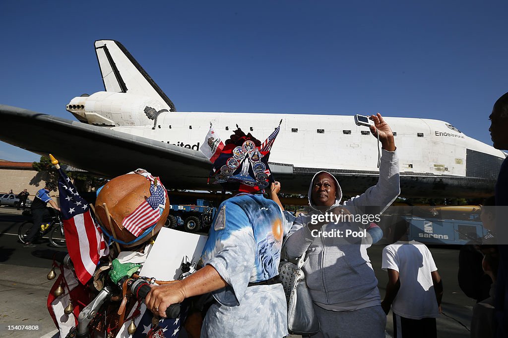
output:
[[[198,262],[207,238],[204,235],[162,228],[141,268],[140,276],[163,281],[178,279],[185,256],[190,262]]]

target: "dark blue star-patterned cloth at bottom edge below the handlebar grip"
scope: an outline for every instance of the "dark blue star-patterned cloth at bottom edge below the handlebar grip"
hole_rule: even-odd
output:
[[[177,318],[161,318],[158,322],[153,321],[152,312],[146,310],[132,338],[178,338],[182,320],[185,320],[187,311],[185,306],[181,309],[182,312]]]

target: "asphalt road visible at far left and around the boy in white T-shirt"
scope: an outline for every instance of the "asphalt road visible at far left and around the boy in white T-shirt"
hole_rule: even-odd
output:
[[[46,309],[45,299],[52,285],[46,279],[51,260],[38,256],[41,250],[63,250],[49,245],[43,239],[36,248],[24,248],[18,242],[17,231],[29,217],[14,208],[0,207],[0,326],[16,323],[40,323],[41,330],[34,332],[6,331],[0,328],[0,337],[51,336],[55,327]],[[388,274],[381,267],[383,245],[368,249],[374,272],[383,298]],[[443,315],[437,319],[438,336],[454,338],[469,336],[469,322],[474,301],[467,298],[457,282],[458,249],[430,248],[443,280]],[[360,323],[359,323],[360,324]],[[393,334],[391,314],[386,329]],[[54,334],[54,332],[53,332]]]

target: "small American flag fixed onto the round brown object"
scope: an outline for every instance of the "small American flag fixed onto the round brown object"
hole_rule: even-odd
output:
[[[155,184],[150,183],[150,193],[150,197],[122,221],[122,226],[134,236],[141,235],[146,229],[156,224],[166,208],[168,192],[158,177]]]

